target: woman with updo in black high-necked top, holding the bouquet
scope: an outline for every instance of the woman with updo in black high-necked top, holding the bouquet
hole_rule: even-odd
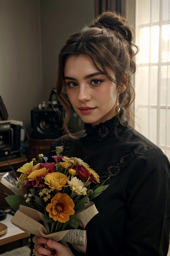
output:
[[[110,184],[93,201],[99,211],[86,226],[86,255],[167,255],[170,233],[170,164],[164,153],[129,126],[134,100],[132,74],[137,46],[127,20],[104,12],[73,34],[59,53],[57,95],[70,117],[68,101],[85,123],[85,131],[61,137],[63,155],[87,162]],[[77,137],[77,138],[75,138]],[[34,237],[34,255],[80,255],[60,243]],[[51,245],[50,245],[51,243]]]

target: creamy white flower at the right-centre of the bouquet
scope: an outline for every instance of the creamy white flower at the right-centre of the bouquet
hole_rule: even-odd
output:
[[[70,186],[70,189],[73,191],[72,196],[73,195],[87,195],[87,188],[84,187],[84,183],[77,179],[77,177],[71,177],[71,181],[67,181],[67,183]]]

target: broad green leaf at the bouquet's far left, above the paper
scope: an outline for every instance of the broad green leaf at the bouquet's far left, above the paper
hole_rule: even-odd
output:
[[[11,196],[5,197],[5,200],[11,206],[11,208],[14,209],[14,211],[19,210],[20,205],[31,207],[30,204],[26,203],[25,198],[22,196],[11,195]]]

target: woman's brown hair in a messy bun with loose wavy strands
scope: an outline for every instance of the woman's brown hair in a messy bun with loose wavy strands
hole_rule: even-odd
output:
[[[66,59],[71,55],[86,54],[92,59],[99,71],[104,71],[112,82],[116,82],[120,86],[127,83],[124,74],[125,72],[128,73],[128,86],[123,93],[119,94],[118,106],[116,108],[117,114],[119,110],[122,113],[121,116],[117,115],[118,122],[116,128],[119,123],[126,126],[125,120],[129,121],[130,119],[130,105],[135,97],[131,76],[136,72],[134,57],[138,52],[138,47],[132,43],[133,39],[134,31],[128,26],[127,19],[123,15],[111,11],[103,12],[90,25],[85,25],[67,39],[58,57],[56,91],[59,100],[66,110],[64,130],[70,138],[73,138],[73,136],[68,131],[67,125],[71,109],[62,91],[65,84],[64,65]],[[100,70],[97,63],[101,65],[103,70]],[[115,72],[116,81],[107,71],[107,67]]]

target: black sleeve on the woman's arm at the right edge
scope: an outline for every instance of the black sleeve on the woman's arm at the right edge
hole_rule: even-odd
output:
[[[170,163],[160,149],[132,161],[127,186],[124,253],[166,256],[170,235]]]

